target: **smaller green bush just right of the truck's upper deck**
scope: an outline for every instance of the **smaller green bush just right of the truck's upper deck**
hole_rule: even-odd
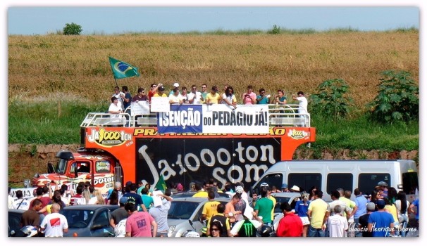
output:
[[[349,86],[343,79],[329,79],[317,87],[318,93],[312,94],[311,110],[329,118],[345,117],[352,107],[353,99],[346,96]]]

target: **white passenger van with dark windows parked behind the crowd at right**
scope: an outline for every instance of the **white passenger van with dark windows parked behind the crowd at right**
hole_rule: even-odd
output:
[[[359,188],[362,194],[370,195],[378,182],[385,181],[388,187],[403,190],[409,201],[414,200],[418,189],[418,171],[413,160],[291,160],[278,162],[256,181],[252,190],[259,193],[259,186],[266,182],[278,189],[282,183],[289,188],[298,186],[309,190],[316,186],[323,191],[323,200],[331,201],[330,192],[337,188]],[[354,198],[354,194],[352,194]]]

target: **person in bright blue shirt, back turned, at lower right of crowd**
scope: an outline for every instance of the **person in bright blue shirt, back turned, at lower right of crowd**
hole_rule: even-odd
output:
[[[387,237],[395,235],[393,216],[385,212],[385,200],[377,200],[376,207],[378,211],[369,215],[368,230],[372,232],[373,237]]]

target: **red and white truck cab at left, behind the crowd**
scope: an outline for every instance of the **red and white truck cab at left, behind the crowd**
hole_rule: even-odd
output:
[[[56,153],[56,158],[56,163],[47,163],[47,174],[35,174],[33,186],[53,182],[58,185],[66,184],[74,190],[78,183],[90,181],[95,188],[101,189],[101,193],[106,193],[113,187],[118,163],[109,153],[80,148],[74,153],[61,150]]]

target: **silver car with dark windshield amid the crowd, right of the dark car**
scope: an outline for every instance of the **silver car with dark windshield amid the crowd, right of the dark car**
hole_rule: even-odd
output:
[[[228,198],[217,198],[225,205]],[[186,231],[201,231],[204,223],[200,221],[203,206],[208,198],[174,198],[168,211],[168,237],[180,237]]]

